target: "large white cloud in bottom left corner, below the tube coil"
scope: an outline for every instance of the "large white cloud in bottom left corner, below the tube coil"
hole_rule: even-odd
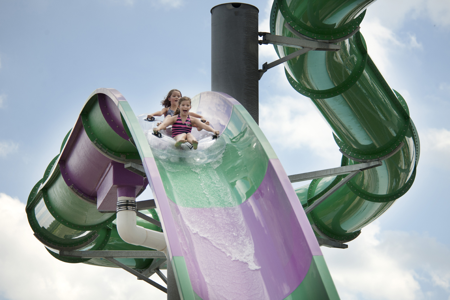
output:
[[[23,203],[0,193],[0,206],[2,299],[166,299],[165,293],[125,270],[56,260],[33,236]],[[152,279],[164,285],[157,275]]]

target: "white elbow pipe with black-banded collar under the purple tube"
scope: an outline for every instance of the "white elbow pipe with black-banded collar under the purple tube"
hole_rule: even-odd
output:
[[[117,204],[127,201],[130,205],[136,207],[136,198],[134,197],[117,197]],[[126,203],[126,202],[125,202]],[[162,251],[167,255],[166,239],[164,233],[157,232],[136,225],[136,211],[130,209],[117,209],[117,232],[125,242],[144,246],[158,251]]]

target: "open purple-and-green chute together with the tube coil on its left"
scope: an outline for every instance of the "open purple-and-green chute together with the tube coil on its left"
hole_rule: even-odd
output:
[[[144,248],[130,243],[164,250],[162,240],[148,235],[152,230],[160,235],[157,226],[138,218],[147,230],[136,227],[134,199],[148,180],[159,211],[152,216],[162,223],[183,299],[338,299],[302,206],[252,117],[236,100],[216,92],[194,97],[193,111],[208,116],[220,131],[215,143],[225,142],[215,160],[201,165],[153,157],[123,96],[112,89],[94,91],[52,161],[48,179],[36,184],[27,205],[31,227],[45,236],[49,252],[68,262],[112,266],[108,260],[61,256],[58,250]],[[198,150],[189,151],[201,156]],[[142,164],[146,176],[125,169],[130,163]],[[112,223],[116,206],[118,219]],[[59,219],[46,226],[44,214]],[[86,241],[53,230],[84,229],[86,220],[94,224]],[[110,236],[100,236],[103,232]],[[95,234],[94,242],[81,245]],[[139,271],[153,264],[151,259],[117,260]]]

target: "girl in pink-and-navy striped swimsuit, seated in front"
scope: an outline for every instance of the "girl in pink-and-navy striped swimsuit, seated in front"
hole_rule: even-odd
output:
[[[166,117],[161,125],[153,128],[153,131],[157,132],[165,129],[169,125],[172,125],[172,138],[176,141],[175,147],[180,147],[182,143],[189,142],[192,144],[194,150],[197,149],[198,141],[191,134],[193,126],[197,126],[199,130],[204,129],[214,134],[219,134],[219,130],[214,130],[214,128],[202,123],[195,117],[189,117],[189,115],[192,116],[192,114],[189,113],[189,109],[191,109],[191,99],[189,97],[181,97],[178,100],[178,110],[175,114],[173,116]]]

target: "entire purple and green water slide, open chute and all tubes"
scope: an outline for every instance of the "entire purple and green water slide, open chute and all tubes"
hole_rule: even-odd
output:
[[[298,48],[275,50],[291,58],[290,84],[329,122],[341,165],[355,168],[351,180],[325,174],[294,191],[260,128],[226,94],[193,98],[192,111],[213,120],[221,135],[213,147],[193,151],[157,144],[162,139],[146,136],[117,90],[99,89],[30,193],[27,215],[36,237],[59,260],[123,264],[145,278],[166,260],[121,252],[115,263],[98,253],[166,251],[183,299],[338,299],[317,239],[356,238],[406,193],[419,160],[405,100],[384,81],[359,32],[361,11],[371,2],[276,0],[270,18],[272,35],[339,45],[297,57],[290,54]],[[356,166],[377,161],[383,165]],[[147,184],[154,206],[135,202]],[[67,250],[89,253],[59,255],[73,253]]]

